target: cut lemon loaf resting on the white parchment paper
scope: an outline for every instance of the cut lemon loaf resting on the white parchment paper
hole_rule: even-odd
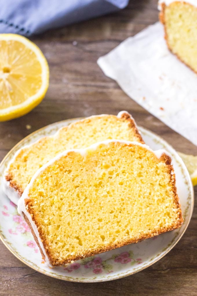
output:
[[[197,73],[197,1],[160,0],[159,8],[168,48]]]

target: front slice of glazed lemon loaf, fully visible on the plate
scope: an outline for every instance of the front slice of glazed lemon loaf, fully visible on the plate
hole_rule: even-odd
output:
[[[56,156],[35,173],[18,211],[50,266],[138,242],[183,222],[170,156],[119,140]]]

